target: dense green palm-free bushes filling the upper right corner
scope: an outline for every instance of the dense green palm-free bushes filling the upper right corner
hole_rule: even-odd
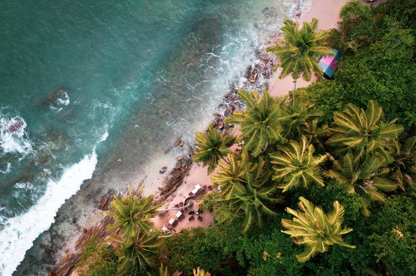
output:
[[[368,100],[375,100],[383,108],[386,120],[398,118],[406,131],[413,131],[416,29],[410,22],[415,22],[415,1],[400,1],[399,10],[406,10],[402,14],[382,8],[393,8],[393,3],[398,2],[390,0],[375,10],[359,1],[343,7],[343,27],[340,33],[332,32],[337,38],[331,46],[343,54],[334,80],[317,82],[305,89],[311,101],[324,111],[326,122],[331,122],[333,113],[349,103],[365,107]],[[404,14],[408,19],[401,21]]]

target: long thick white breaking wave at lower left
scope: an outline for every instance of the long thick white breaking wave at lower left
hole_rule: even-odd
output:
[[[108,132],[105,131],[98,142],[105,140],[107,136]],[[0,258],[0,275],[12,275],[24,259],[26,250],[33,246],[33,241],[55,221],[54,217],[60,206],[78,192],[83,181],[92,177],[96,163],[94,147],[91,155],[65,169],[59,181],[49,181],[44,195],[28,212],[3,221],[3,230],[0,232],[0,256],[7,258]],[[21,185],[21,188],[31,187]]]

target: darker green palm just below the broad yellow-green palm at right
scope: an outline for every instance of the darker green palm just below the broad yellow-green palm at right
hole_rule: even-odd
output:
[[[368,217],[368,206],[372,201],[385,202],[381,191],[392,192],[397,189],[397,183],[384,178],[389,171],[383,158],[366,154],[359,159],[346,154],[342,163],[333,160],[333,169],[329,169],[328,176],[343,183],[350,194],[361,196],[363,214]]]

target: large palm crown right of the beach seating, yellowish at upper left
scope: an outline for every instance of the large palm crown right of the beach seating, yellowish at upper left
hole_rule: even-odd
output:
[[[247,151],[241,154],[241,160],[230,156],[230,164],[220,163],[217,174],[211,176],[213,181],[221,183],[221,194],[215,201],[215,217],[219,222],[231,223],[236,217],[243,217],[242,228],[246,232],[253,223],[261,225],[262,214],[275,215],[269,208],[270,203],[277,203],[277,187],[270,185],[271,172],[264,168],[264,161],[251,163]],[[236,164],[236,165],[234,165]],[[230,167],[239,167],[233,173]]]

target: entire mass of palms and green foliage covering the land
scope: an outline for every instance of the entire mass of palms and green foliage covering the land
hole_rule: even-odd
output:
[[[352,1],[340,17],[329,37],[316,21],[301,30],[285,21],[284,43],[270,48],[295,79],[315,68],[300,68],[321,56],[312,50],[338,48],[334,80],[288,98],[240,91],[247,109],[227,119],[241,128],[235,153],[234,140],[213,128],[197,135],[195,160],[220,187],[203,197],[215,227],[164,243],[149,216],[135,216],[153,213],[147,199],[117,198],[118,273],[157,275],[163,261],[159,275],[416,275],[416,0]],[[291,47],[300,48],[289,55]],[[85,256],[92,250],[104,252],[103,264],[89,272],[114,269],[111,251],[97,246]]]

